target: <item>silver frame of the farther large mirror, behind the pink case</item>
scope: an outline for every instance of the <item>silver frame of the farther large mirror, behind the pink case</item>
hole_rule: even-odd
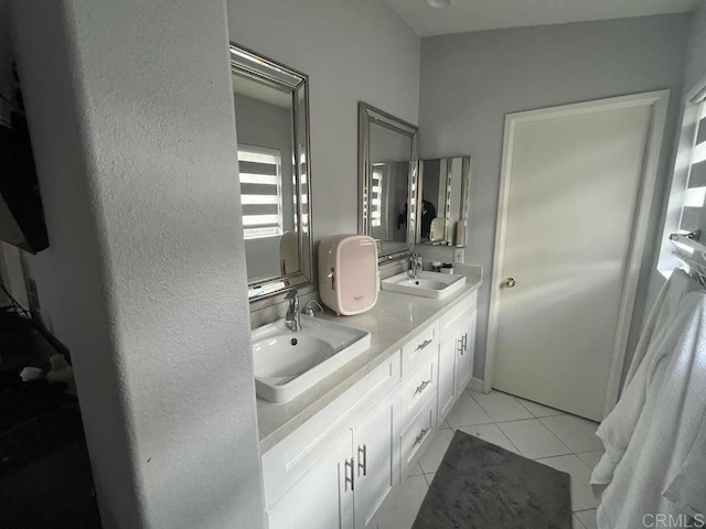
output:
[[[409,255],[409,249],[415,244],[417,234],[417,171],[418,171],[418,151],[417,151],[417,133],[419,128],[403,121],[378,108],[366,102],[359,101],[359,136],[357,136],[357,175],[359,175],[359,217],[357,233],[371,235],[370,218],[367,215],[367,190],[371,183],[371,125],[379,125],[386,129],[404,134],[410,140],[410,158],[409,158],[409,182],[407,187],[407,240],[404,250],[381,251],[378,245],[378,263],[400,259]]]

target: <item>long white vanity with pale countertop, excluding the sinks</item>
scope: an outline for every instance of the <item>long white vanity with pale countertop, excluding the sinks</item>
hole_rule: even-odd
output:
[[[376,527],[471,380],[478,276],[446,300],[379,292],[335,319],[371,347],[296,399],[257,402],[270,529]]]

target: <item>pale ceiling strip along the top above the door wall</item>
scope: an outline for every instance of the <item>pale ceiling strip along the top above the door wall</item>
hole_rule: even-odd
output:
[[[420,36],[694,11],[702,0],[385,0]]]

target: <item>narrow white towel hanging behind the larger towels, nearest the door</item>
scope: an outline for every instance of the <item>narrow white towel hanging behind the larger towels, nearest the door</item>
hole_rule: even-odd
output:
[[[623,387],[627,387],[635,376],[635,371],[642,363],[650,344],[654,339],[659,339],[668,328],[684,294],[694,290],[702,290],[702,285],[689,278],[684,270],[674,269],[670,279],[660,290],[657,299],[644,323]]]

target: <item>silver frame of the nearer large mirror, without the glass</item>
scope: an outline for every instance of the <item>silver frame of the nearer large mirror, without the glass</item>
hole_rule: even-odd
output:
[[[292,99],[292,152],[295,159],[292,174],[297,196],[295,229],[298,235],[299,270],[286,276],[261,278],[256,281],[248,280],[247,295],[252,303],[314,282],[311,244],[309,76],[234,42],[231,42],[229,56],[232,75],[237,73],[275,88],[289,90]],[[303,195],[307,196],[306,202],[301,199]]]

